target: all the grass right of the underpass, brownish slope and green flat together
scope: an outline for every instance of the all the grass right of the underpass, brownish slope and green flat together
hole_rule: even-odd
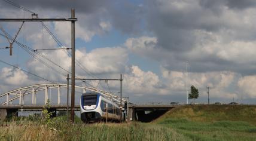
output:
[[[192,140],[256,140],[256,107],[182,106],[154,121]]]

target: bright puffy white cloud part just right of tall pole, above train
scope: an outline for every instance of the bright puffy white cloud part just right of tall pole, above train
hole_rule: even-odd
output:
[[[94,74],[120,73],[128,61],[128,54],[125,48],[106,47],[96,48],[90,53],[77,51],[77,60]]]

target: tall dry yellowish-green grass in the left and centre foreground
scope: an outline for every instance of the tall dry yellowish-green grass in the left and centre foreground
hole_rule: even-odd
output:
[[[17,122],[0,127],[0,140],[190,140],[172,128],[138,122],[122,124],[37,124]]]

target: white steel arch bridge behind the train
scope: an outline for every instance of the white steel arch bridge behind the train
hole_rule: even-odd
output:
[[[36,96],[38,94],[44,94],[44,104],[47,104],[48,100],[48,90],[57,89],[57,105],[60,105],[60,88],[67,88],[67,84],[55,84],[55,83],[48,83],[48,84],[35,84],[29,85],[22,88],[17,88],[15,90],[8,91],[0,95],[0,105],[12,105],[14,100],[19,100],[19,105],[36,105]],[[71,87],[71,85],[69,85]],[[83,91],[90,90],[95,91],[97,93],[102,94],[103,96],[109,97],[114,102],[120,103],[121,98],[116,96],[115,94],[109,93],[107,91],[99,90],[93,87],[85,87],[85,86],[78,86],[75,85],[76,89],[82,89]],[[44,93],[38,93],[39,91],[43,91]],[[70,94],[71,95],[71,94]],[[25,103],[25,97],[31,96],[31,102]],[[56,95],[55,95],[56,96]],[[66,97],[65,97],[66,98]],[[122,105],[126,101],[122,98]],[[16,104],[17,105],[17,104]]]

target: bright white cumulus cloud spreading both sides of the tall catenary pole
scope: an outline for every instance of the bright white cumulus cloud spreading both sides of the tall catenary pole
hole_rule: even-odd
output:
[[[45,52],[44,56],[51,59],[55,65],[43,57],[39,57],[39,59],[43,60],[46,65],[39,59],[33,58],[27,64],[29,71],[39,73],[51,81],[64,81],[67,71],[71,72],[71,57],[62,50]],[[79,62],[79,65],[76,63],[76,75],[82,78],[90,75],[124,72],[124,66],[127,62],[127,51],[121,47],[96,48],[89,53],[86,50],[76,50],[75,56],[77,63]]]

